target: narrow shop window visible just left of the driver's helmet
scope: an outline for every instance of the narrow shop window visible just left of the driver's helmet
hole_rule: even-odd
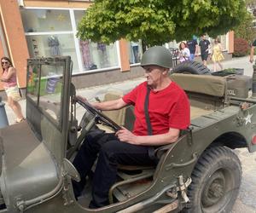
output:
[[[130,64],[140,63],[143,55],[142,41],[140,40],[138,42],[129,42],[128,51]]]

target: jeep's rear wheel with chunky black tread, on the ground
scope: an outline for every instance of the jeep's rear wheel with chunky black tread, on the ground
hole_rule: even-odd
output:
[[[191,177],[190,202],[183,212],[231,212],[241,185],[241,163],[230,148],[208,148],[195,165]]]

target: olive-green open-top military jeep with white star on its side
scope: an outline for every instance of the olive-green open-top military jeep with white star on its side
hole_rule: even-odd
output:
[[[0,130],[0,212],[230,212],[241,184],[233,150],[256,150],[256,101],[229,96],[225,78],[182,73],[171,78],[189,96],[189,129],[155,150],[156,167],[119,165],[110,204],[92,210],[87,206],[93,171],[76,200],[72,181],[80,177],[73,158],[89,130],[130,128],[131,107],[110,114],[113,120],[78,100],[70,57],[27,60],[26,121]]]

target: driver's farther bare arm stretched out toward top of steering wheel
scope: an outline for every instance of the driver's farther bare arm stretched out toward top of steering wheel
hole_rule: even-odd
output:
[[[125,106],[127,106],[127,104],[125,103],[125,101],[123,101],[122,98],[119,98],[117,100],[113,100],[113,101],[104,101],[104,102],[93,102],[90,103],[93,107],[96,107],[96,109],[99,110],[117,110],[120,108],[123,108]]]

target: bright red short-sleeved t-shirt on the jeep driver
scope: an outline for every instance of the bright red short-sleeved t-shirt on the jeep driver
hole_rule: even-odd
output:
[[[123,97],[125,103],[135,106],[136,120],[133,127],[135,135],[148,135],[144,112],[146,95],[147,82],[143,82]],[[148,102],[153,135],[167,133],[170,128],[185,130],[189,127],[189,99],[177,83],[172,82],[168,87],[157,92],[151,90]]]

